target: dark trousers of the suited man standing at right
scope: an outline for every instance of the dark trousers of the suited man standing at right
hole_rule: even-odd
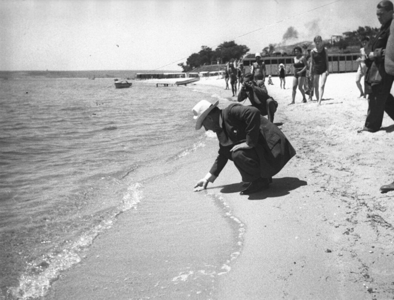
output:
[[[394,120],[394,97],[390,94],[390,85],[377,84],[372,86],[368,99],[368,113],[364,130],[376,132],[380,130],[384,112]]]

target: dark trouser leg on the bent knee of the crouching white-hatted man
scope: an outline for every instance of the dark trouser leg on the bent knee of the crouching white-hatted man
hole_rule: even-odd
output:
[[[251,182],[261,177],[260,159],[255,148],[233,151],[231,158],[242,176],[242,181]]]

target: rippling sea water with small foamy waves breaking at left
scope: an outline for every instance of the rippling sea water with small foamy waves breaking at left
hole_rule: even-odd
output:
[[[204,147],[208,137],[193,130],[191,107],[206,97],[140,81],[115,89],[112,79],[0,80],[2,298],[45,295],[119,214],[144,208],[144,168]],[[222,209],[217,219],[232,217],[220,199],[212,202]],[[234,244],[234,235],[223,239]]]

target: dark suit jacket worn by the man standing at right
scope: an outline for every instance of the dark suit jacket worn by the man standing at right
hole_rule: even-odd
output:
[[[382,89],[390,90],[392,76],[385,71],[385,49],[388,36],[390,35],[390,25],[392,20],[382,25],[379,33],[372,42],[372,51],[374,52],[374,60],[367,58],[365,64],[367,66],[365,74],[365,93],[372,93],[372,86],[382,84]],[[390,87],[388,87],[390,85]]]

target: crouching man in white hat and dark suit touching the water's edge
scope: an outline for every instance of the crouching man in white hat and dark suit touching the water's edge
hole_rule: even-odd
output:
[[[219,155],[208,174],[195,188],[206,189],[214,182],[230,159],[248,183],[241,194],[252,194],[267,189],[272,176],[277,174],[296,154],[282,131],[260,115],[253,106],[232,103],[224,109],[206,100],[193,107],[196,130],[204,126],[219,139]]]

